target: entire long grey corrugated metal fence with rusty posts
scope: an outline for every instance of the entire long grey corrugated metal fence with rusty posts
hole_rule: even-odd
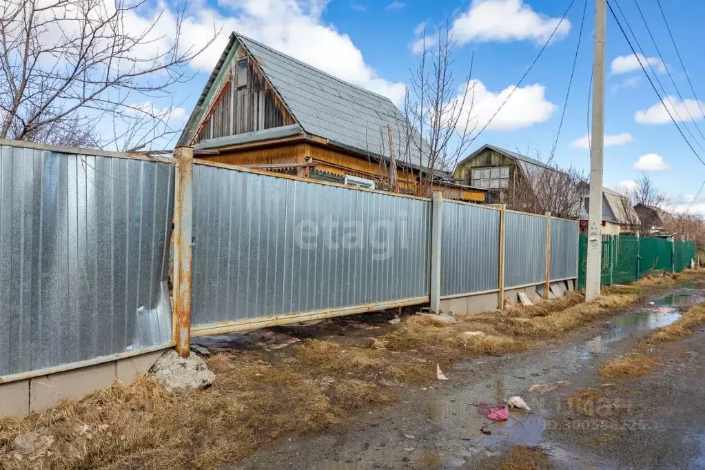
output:
[[[501,266],[507,288],[546,277],[544,216],[439,199],[434,226],[431,199],[192,164],[190,156],[192,178],[182,156],[8,141],[0,152],[0,383],[173,344],[188,352],[189,331],[501,291]],[[553,220],[551,229],[551,277],[568,278],[577,225]]]

